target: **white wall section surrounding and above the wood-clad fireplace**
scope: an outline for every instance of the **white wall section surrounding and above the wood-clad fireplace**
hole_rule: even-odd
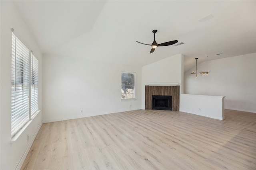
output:
[[[178,83],[183,93],[183,60],[181,54],[142,67],[142,108],[145,109],[145,86]]]

